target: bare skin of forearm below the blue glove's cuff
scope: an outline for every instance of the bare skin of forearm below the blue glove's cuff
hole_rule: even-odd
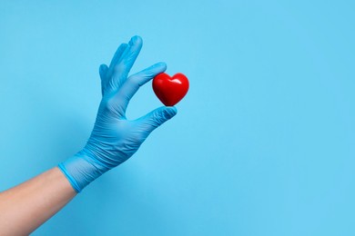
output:
[[[0,235],[28,235],[75,196],[58,168],[0,192]]]

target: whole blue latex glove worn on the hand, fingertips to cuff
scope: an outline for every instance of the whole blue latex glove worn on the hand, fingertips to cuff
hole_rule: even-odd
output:
[[[166,64],[158,63],[128,77],[141,48],[142,39],[134,36],[118,47],[109,66],[100,66],[103,97],[94,130],[82,151],[58,165],[76,192],[127,161],[149,133],[177,113],[175,107],[162,106],[137,120],[127,120],[127,105],[138,88],[167,69]]]

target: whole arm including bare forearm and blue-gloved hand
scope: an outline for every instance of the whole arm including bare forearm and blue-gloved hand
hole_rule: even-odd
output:
[[[110,66],[100,66],[103,98],[86,146],[58,167],[0,192],[0,236],[35,231],[70,202],[76,192],[126,162],[149,133],[177,113],[176,108],[164,106],[136,120],[127,120],[127,104],[138,88],[167,68],[166,64],[157,63],[128,76],[141,47],[142,39],[134,36],[128,44],[118,47]]]

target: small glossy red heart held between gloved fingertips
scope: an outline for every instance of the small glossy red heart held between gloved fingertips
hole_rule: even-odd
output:
[[[172,77],[165,73],[157,74],[153,79],[153,90],[162,103],[173,106],[188,93],[188,77],[181,73]]]

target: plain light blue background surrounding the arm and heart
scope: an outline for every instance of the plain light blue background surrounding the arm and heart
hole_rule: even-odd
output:
[[[130,36],[132,72],[190,80],[177,117],[33,235],[355,235],[354,1],[0,3],[0,190],[83,147],[98,65]],[[160,105],[147,84],[128,118]]]

